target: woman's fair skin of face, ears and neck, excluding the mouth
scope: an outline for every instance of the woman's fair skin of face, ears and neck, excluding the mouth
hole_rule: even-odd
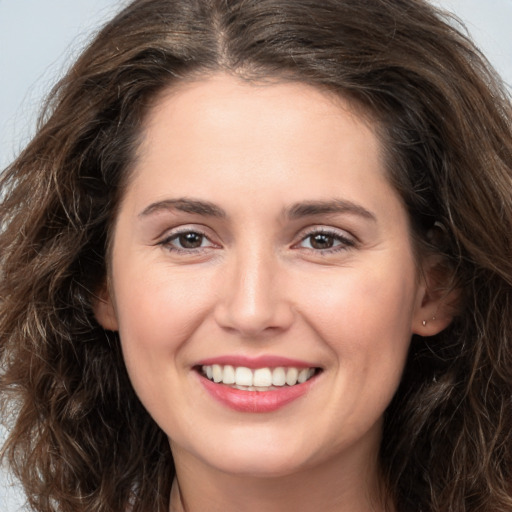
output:
[[[214,209],[184,211],[184,198]],[[345,208],[296,206],[311,202]],[[199,245],[180,246],[183,231]],[[119,330],[133,386],[169,436],[173,510],[382,509],[384,410],[411,335],[450,319],[420,278],[371,123],[347,102],[226,75],[162,95],[114,226],[109,281],[96,316]],[[321,372],[277,411],[240,412],[196,371],[225,355]]]

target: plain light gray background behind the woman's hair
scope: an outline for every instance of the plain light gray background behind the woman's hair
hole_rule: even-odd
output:
[[[455,12],[512,85],[512,0],[432,0]],[[42,98],[127,0],[0,0],[0,169],[34,132]],[[0,430],[0,444],[2,439]],[[23,499],[0,469],[0,511]]]

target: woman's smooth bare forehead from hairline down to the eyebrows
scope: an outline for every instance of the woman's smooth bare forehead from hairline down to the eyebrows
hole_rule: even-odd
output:
[[[375,125],[343,97],[216,75],[155,101],[117,220],[138,221],[162,205],[183,211],[192,200],[243,230],[279,229],[286,212],[311,204],[408,225],[381,154]]]

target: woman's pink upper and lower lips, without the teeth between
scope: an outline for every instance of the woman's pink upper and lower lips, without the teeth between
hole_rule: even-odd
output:
[[[221,356],[200,361],[197,366],[214,364],[245,366],[247,368],[276,368],[279,366],[311,368],[314,365],[279,356],[261,356],[248,358],[243,356]],[[304,396],[314,384],[315,377],[302,384],[283,386],[270,391],[245,391],[222,383],[215,383],[197,373],[206,391],[221,404],[239,412],[268,413],[277,411],[285,405]]]

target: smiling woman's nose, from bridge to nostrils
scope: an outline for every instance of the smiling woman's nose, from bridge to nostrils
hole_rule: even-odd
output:
[[[294,312],[277,257],[253,250],[233,259],[224,268],[217,323],[244,338],[288,329]]]

